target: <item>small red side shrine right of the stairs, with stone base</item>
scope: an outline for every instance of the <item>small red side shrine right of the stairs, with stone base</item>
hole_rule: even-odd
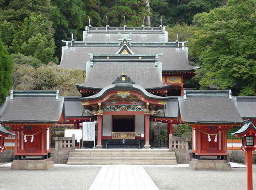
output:
[[[231,170],[227,131],[243,123],[231,90],[184,90],[178,105],[178,120],[192,126],[190,167]]]

